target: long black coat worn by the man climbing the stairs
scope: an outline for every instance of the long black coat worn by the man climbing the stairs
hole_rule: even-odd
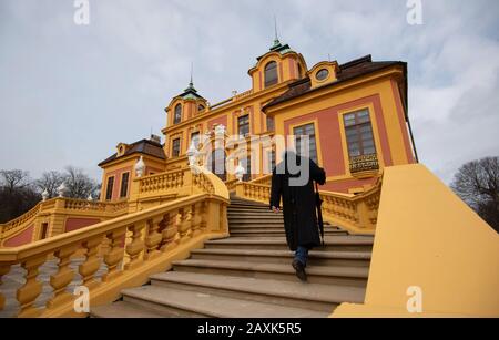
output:
[[[289,177],[297,177],[301,173],[289,173],[287,158],[285,156],[285,161],[277,164],[273,171],[271,208],[279,207],[283,198],[284,227],[291,250],[296,250],[298,246],[307,248],[320,246],[313,181],[323,185],[326,182],[326,173],[312,159],[297,156],[298,166],[304,164],[309,167],[308,182],[303,186],[289,185]]]

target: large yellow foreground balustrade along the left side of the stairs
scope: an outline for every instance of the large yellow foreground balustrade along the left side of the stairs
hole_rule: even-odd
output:
[[[75,297],[69,287],[86,287],[91,306],[108,303],[118,299],[122,289],[143,285],[150,275],[169,269],[173,260],[189,257],[190,250],[205,240],[228,236],[225,185],[213,174],[194,177],[200,194],[30,245],[0,249],[0,282],[13,266],[26,270],[16,293],[0,289],[0,310],[12,310],[18,317],[84,317],[74,311]],[[103,245],[105,251],[101,251]],[[70,264],[81,249],[83,260],[74,269]],[[51,258],[58,259],[57,272],[49,281],[39,281],[40,267]],[[101,267],[105,272],[99,278]],[[45,286],[51,286],[53,293],[39,307],[38,298],[50,290]],[[10,301],[17,301],[16,306]]]

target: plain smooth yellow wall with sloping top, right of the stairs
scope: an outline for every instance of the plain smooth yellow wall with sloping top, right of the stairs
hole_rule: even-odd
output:
[[[333,317],[499,317],[499,235],[422,165],[385,171],[365,305]],[[409,315],[407,289],[422,291]]]

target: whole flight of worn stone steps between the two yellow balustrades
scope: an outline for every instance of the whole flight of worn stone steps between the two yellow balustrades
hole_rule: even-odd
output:
[[[326,225],[325,246],[310,251],[304,284],[291,266],[282,214],[232,197],[228,224],[230,238],[205,243],[91,316],[320,318],[342,302],[364,302],[373,237]]]

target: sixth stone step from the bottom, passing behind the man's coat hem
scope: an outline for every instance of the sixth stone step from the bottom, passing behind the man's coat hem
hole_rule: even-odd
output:
[[[373,237],[369,236],[325,236],[324,239],[324,247],[317,247],[314,250],[373,251]],[[205,248],[288,250],[285,237],[230,237],[208,240],[205,243]]]

